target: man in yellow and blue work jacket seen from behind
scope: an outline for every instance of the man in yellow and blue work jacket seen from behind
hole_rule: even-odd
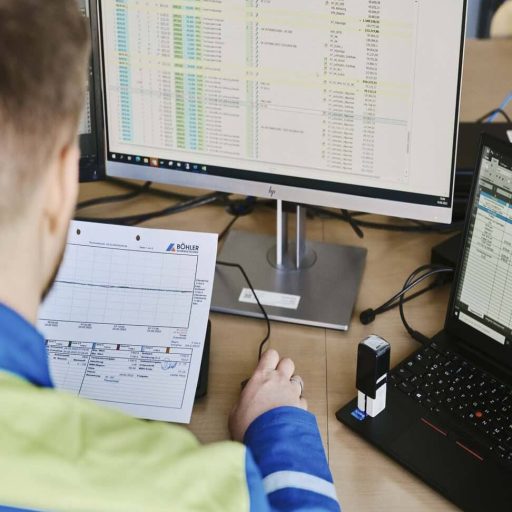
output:
[[[53,389],[34,324],[77,198],[88,49],[75,0],[0,0],[0,510],[339,510],[302,382],[273,350],[233,410],[235,442]]]

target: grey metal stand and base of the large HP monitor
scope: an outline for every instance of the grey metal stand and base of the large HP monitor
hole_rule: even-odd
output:
[[[306,242],[306,208],[295,208],[293,242],[289,242],[289,215],[278,201],[277,239],[232,231],[219,260],[244,268],[271,320],[346,331],[367,251]],[[212,311],[263,317],[242,273],[231,267],[217,266]]]

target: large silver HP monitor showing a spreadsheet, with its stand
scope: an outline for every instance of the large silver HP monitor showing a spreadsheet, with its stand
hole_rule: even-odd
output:
[[[109,175],[451,221],[466,0],[99,5]],[[299,236],[286,272],[275,241],[240,236],[226,258],[248,258],[271,317],[347,328],[362,250]],[[214,307],[257,316],[233,272]]]

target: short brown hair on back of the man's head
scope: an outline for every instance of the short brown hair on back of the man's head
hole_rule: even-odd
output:
[[[0,225],[76,139],[88,41],[77,0],[0,0]]]

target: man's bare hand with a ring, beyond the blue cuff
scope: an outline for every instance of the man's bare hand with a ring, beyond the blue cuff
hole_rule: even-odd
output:
[[[273,349],[263,354],[229,417],[229,430],[235,441],[242,442],[251,423],[276,407],[307,410],[307,402],[302,397],[302,379],[294,376],[294,372],[295,364],[291,359],[280,359]]]

